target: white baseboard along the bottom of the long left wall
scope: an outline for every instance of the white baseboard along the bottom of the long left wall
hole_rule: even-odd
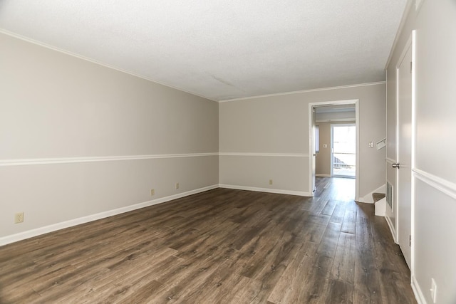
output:
[[[212,186],[207,186],[207,187],[203,187],[203,188],[199,188],[199,189],[195,189],[195,190],[190,190],[190,191],[187,191],[187,192],[182,192],[180,194],[174,194],[174,195],[170,195],[170,196],[165,196],[165,197],[162,197],[160,199],[153,199],[152,201],[145,201],[145,202],[140,203],[140,204],[134,204],[134,205],[118,208],[118,209],[103,211],[103,212],[100,212],[98,214],[90,214],[88,216],[83,216],[83,217],[80,217],[78,219],[71,219],[69,221],[63,221],[61,223],[51,224],[51,225],[40,227],[40,228],[37,228],[37,229],[32,229],[32,230],[20,232],[19,234],[12,234],[10,236],[3,236],[3,237],[0,238],[0,246],[6,245],[8,243],[14,243],[16,241],[21,241],[21,240],[24,240],[24,239],[33,238],[34,236],[40,236],[41,234],[48,234],[49,232],[57,231],[57,230],[60,230],[60,229],[65,229],[65,228],[68,228],[68,227],[72,227],[72,226],[88,223],[89,221],[96,221],[98,219],[104,219],[104,218],[109,217],[109,216],[115,216],[117,214],[123,214],[125,212],[133,211],[133,210],[136,210],[136,209],[145,208],[147,206],[152,206],[152,205],[156,205],[156,204],[162,204],[162,203],[165,203],[166,201],[172,201],[173,199],[180,199],[181,197],[184,197],[184,196],[189,196],[189,195],[197,194],[197,193],[200,193],[200,192],[206,192],[206,191],[209,191],[209,190],[212,190],[212,189],[216,189],[218,187],[219,187],[218,184],[214,184]]]

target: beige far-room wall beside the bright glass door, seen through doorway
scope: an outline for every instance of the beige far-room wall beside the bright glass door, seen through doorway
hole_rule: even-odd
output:
[[[316,122],[320,129],[320,152],[316,154],[315,173],[317,176],[331,176],[331,125],[355,123],[348,122]],[[326,144],[327,147],[323,147]]]

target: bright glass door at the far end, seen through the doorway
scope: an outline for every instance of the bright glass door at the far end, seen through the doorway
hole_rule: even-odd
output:
[[[331,125],[331,177],[356,177],[356,125]]]

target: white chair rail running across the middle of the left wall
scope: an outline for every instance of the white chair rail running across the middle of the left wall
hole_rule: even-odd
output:
[[[0,167],[25,166],[31,164],[70,164],[75,162],[113,162],[121,160],[160,159],[181,157],[218,156],[214,153],[189,153],[189,154],[152,154],[152,155],[124,155],[102,157],[57,157],[57,158],[31,158],[31,159],[0,159]]]

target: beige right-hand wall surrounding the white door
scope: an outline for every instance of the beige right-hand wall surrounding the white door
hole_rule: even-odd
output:
[[[395,65],[415,29],[412,283],[421,303],[432,303],[431,278],[437,303],[456,301],[455,16],[455,1],[424,0],[420,11],[413,1],[388,65],[388,158],[394,161]]]

